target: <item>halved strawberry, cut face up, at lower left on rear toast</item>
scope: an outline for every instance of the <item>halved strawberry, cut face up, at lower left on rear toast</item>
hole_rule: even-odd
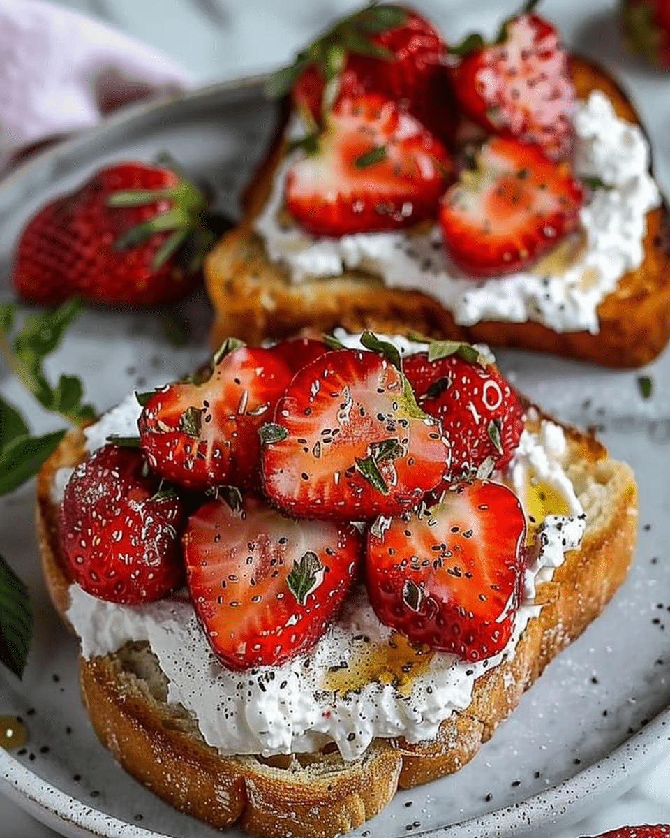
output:
[[[396,230],[437,217],[451,157],[394,102],[343,100],[314,142],[286,176],[286,208],[307,232]]]

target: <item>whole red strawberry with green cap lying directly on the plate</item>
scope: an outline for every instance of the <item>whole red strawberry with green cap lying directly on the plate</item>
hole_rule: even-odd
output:
[[[112,163],[28,221],[14,287],[47,304],[75,295],[122,305],[182,297],[214,241],[205,226],[211,201],[173,166]]]

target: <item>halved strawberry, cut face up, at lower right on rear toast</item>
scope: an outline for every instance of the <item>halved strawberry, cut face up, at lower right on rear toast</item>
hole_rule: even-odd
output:
[[[472,277],[522,270],[578,227],[583,197],[539,147],[493,137],[442,199],[446,251]]]

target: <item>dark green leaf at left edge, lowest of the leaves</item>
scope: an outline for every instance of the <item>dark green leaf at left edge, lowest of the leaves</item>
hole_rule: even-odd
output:
[[[0,661],[23,677],[33,637],[33,613],[28,588],[0,556]]]

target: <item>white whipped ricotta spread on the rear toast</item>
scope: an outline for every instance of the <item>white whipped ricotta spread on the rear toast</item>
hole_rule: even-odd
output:
[[[415,289],[451,311],[456,323],[535,320],[557,332],[599,330],[596,308],[618,280],[644,258],[646,215],[660,204],[649,173],[649,147],[639,126],[616,116],[594,91],[575,116],[575,170],[597,178],[580,211],[584,245],[564,269],[542,263],[531,271],[476,282],[446,261],[441,230],[313,237],[281,220],[283,184],[293,160],[278,168],[271,197],[255,220],[272,261],[286,265],[293,282],[363,270],[389,287]]]

